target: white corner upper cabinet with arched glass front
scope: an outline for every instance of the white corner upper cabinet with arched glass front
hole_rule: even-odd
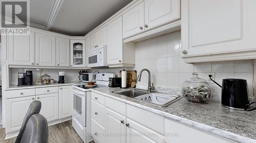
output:
[[[85,40],[70,40],[71,67],[86,67]]]

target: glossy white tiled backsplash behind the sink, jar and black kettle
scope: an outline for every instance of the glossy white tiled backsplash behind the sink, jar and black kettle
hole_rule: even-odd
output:
[[[247,79],[250,95],[253,95],[253,60],[224,61],[186,64],[180,58],[180,32],[136,43],[135,70],[147,68],[152,72],[152,82],[156,86],[180,88],[182,83],[191,78],[193,72],[206,79],[207,72],[215,72],[215,79],[222,84],[223,78]],[[141,79],[147,84],[147,74]],[[210,84],[212,91],[221,93],[221,88]]]

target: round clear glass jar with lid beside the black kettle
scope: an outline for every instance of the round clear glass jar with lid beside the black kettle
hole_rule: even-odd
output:
[[[198,73],[194,72],[193,77],[183,82],[181,87],[182,95],[190,102],[207,103],[211,95],[210,85],[206,79],[199,78]]]

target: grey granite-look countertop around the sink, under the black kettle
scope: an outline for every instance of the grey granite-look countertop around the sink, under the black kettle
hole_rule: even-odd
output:
[[[112,93],[118,90],[121,89],[109,87],[92,89],[94,92],[237,142],[256,142],[256,110],[232,110],[221,106],[217,101],[200,104],[188,102],[185,98],[167,107],[161,107]]]

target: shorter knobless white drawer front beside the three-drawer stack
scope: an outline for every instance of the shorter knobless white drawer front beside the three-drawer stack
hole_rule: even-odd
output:
[[[120,113],[121,115],[126,115],[126,104],[121,102],[121,101],[118,101],[118,100],[115,100],[115,99],[112,99],[112,98],[109,98],[109,97],[105,97],[105,106]]]

